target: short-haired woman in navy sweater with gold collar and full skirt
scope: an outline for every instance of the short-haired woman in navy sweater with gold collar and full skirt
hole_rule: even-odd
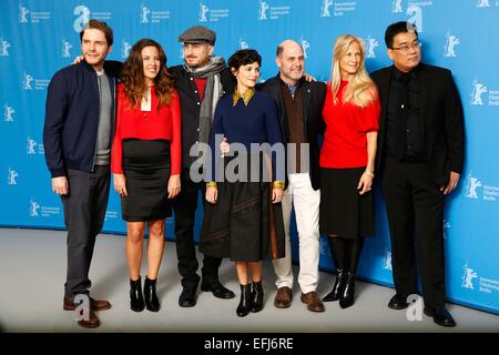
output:
[[[285,169],[276,169],[277,162],[284,162],[284,149],[277,156],[262,149],[266,144],[274,150],[283,141],[277,104],[255,91],[261,63],[259,54],[251,49],[228,60],[237,88],[215,110],[211,176],[206,176],[208,203],[200,243],[204,254],[235,262],[241,284],[238,316],[263,308],[261,261],[284,256],[281,199]]]

